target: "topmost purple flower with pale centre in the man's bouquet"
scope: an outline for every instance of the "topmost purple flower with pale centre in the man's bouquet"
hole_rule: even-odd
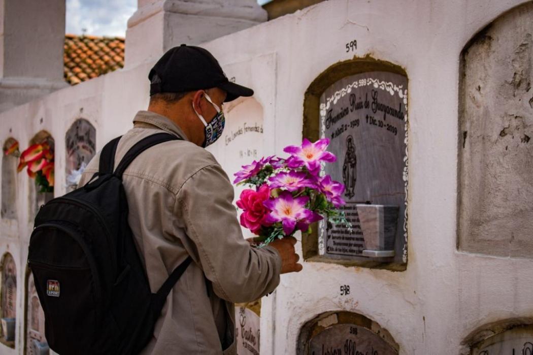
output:
[[[287,166],[290,168],[305,166],[311,174],[318,175],[321,161],[332,163],[336,160],[335,155],[326,151],[328,144],[327,138],[319,139],[314,143],[304,138],[302,146],[285,147],[283,151],[290,154],[286,161]]]

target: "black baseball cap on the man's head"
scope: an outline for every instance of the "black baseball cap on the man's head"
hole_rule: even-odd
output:
[[[209,51],[182,44],[169,49],[148,74],[150,96],[160,92],[187,92],[219,87],[228,93],[224,102],[254,91],[230,82],[219,62]]]

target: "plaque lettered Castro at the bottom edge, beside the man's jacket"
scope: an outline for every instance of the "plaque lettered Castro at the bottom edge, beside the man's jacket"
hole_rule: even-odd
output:
[[[235,307],[235,340],[239,355],[258,355],[260,338],[260,318],[246,307]]]

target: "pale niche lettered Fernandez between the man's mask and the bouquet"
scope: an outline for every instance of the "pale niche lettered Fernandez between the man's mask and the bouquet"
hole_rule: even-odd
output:
[[[264,156],[263,107],[254,98],[239,98],[224,104],[225,127],[222,136],[208,150],[213,153],[231,181],[241,166]],[[244,186],[235,187],[235,200]],[[245,237],[252,233],[243,228]]]

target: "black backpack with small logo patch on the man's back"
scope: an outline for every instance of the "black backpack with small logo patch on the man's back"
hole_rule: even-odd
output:
[[[46,340],[59,354],[135,354],[150,341],[168,293],[190,256],[151,293],[133,235],[122,174],[142,151],[177,140],[157,133],[118,164],[120,137],[100,156],[99,172],[43,205],[31,233],[28,264],[45,315]]]

